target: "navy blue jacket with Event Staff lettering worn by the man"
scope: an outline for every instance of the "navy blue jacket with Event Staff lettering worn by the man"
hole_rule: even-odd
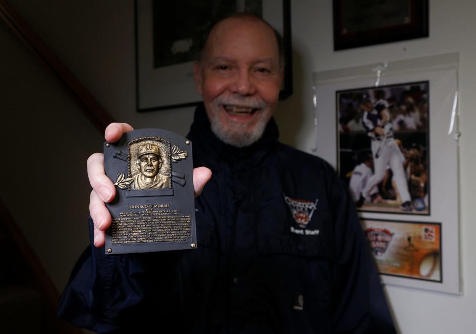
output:
[[[99,333],[395,333],[330,165],[278,142],[273,119],[250,147],[224,144],[202,105],[188,138],[194,165],[213,172],[195,202],[197,249],[106,257],[91,246],[60,317]]]

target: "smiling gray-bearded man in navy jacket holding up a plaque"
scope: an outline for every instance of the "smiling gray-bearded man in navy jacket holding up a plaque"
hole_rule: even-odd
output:
[[[114,187],[102,156],[90,157],[96,247],[74,268],[60,316],[101,333],[395,333],[345,185],[277,141],[282,64],[273,29],[245,14],[217,23],[195,64],[204,103],[188,138],[194,165],[213,171],[205,188],[210,171],[194,171],[196,250],[105,257]],[[106,140],[129,130],[110,125]],[[304,227],[286,197],[315,204]]]

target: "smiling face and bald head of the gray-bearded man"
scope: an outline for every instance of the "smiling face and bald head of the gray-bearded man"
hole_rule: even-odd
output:
[[[212,131],[237,147],[258,140],[283,79],[274,31],[253,17],[225,19],[210,32],[194,72]]]

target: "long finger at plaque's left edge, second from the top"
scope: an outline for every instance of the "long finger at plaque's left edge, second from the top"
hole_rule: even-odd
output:
[[[91,187],[96,194],[105,202],[109,202],[116,196],[113,182],[104,173],[104,154],[94,153],[88,158],[88,178]]]

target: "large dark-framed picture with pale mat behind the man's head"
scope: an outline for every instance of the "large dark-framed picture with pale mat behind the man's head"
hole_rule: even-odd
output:
[[[136,100],[139,112],[197,104],[192,65],[214,22],[235,12],[262,17],[283,36],[280,98],[292,94],[290,0],[135,1]]]

